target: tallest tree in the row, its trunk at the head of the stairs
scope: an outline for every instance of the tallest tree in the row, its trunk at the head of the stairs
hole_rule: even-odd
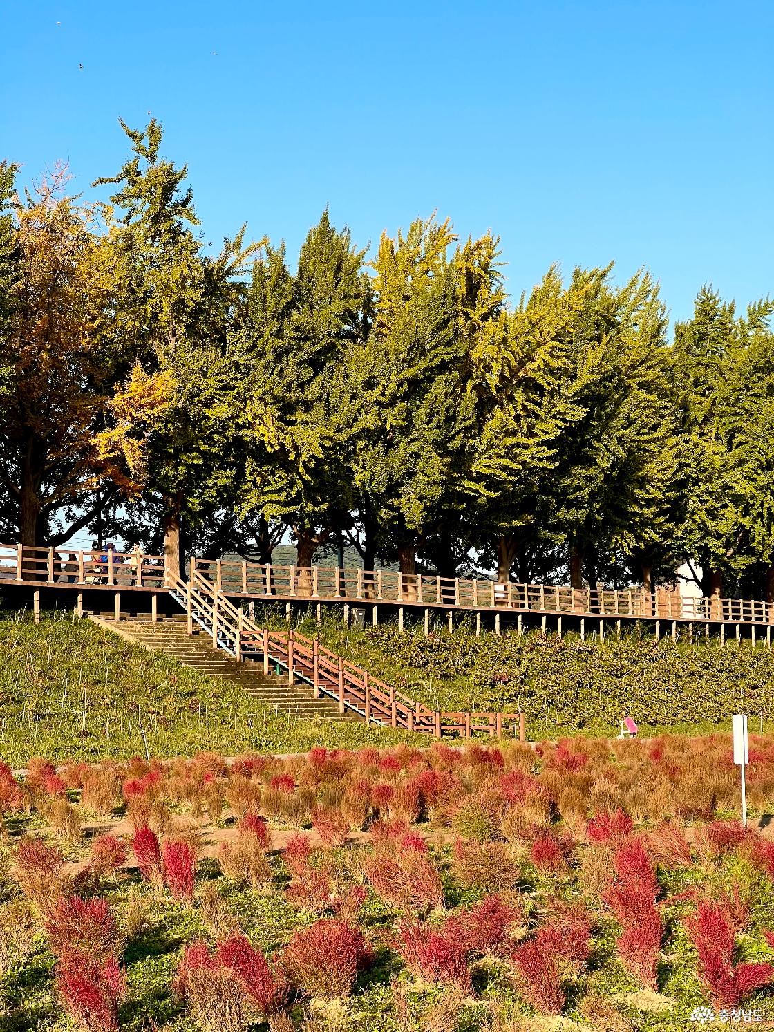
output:
[[[95,186],[118,187],[110,197],[121,216],[110,236],[123,276],[116,318],[147,368],[174,374],[175,404],[153,434],[142,514],[160,523],[167,566],[180,573],[184,524],[194,529],[233,501],[235,434],[223,411],[222,360],[258,245],[245,244],[243,226],[209,255],[188,168],[161,156],[161,125],[121,125],[131,156]]]

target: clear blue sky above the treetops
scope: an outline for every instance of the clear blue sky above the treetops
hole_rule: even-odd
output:
[[[706,281],[774,293],[772,43],[771,0],[0,0],[0,157],[88,190],[152,111],[207,240],[438,209],[514,294],[615,259],[684,318]]]

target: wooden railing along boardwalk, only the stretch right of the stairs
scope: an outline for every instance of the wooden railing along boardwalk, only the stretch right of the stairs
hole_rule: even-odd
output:
[[[219,591],[260,599],[320,599],[455,609],[515,610],[612,619],[770,623],[774,606],[755,600],[685,599],[676,591],[646,592],[546,584],[502,584],[462,577],[400,574],[392,570],[279,567],[230,559],[193,559],[196,573]]]

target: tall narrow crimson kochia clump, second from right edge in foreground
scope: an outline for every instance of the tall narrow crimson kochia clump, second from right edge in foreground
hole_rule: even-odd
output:
[[[659,886],[640,839],[616,849],[615,880],[605,902],[621,926],[618,956],[645,989],[655,990],[664,922],[655,905]]]

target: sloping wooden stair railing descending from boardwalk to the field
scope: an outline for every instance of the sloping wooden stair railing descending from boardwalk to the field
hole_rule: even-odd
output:
[[[215,647],[224,648],[237,659],[259,662],[266,674],[272,665],[282,668],[290,684],[307,681],[316,699],[335,701],[340,713],[356,713],[366,723],[438,738],[445,734],[471,738],[476,732],[501,738],[509,728],[524,738],[523,714],[431,710],[316,640],[293,631],[259,627],[199,573],[194,572],[187,583],[170,576],[169,587],[187,611],[189,633],[196,622],[212,636]]]

